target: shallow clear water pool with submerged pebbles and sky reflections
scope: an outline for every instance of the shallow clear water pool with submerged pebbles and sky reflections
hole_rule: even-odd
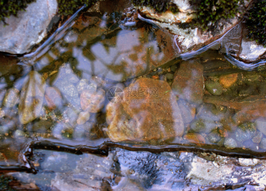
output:
[[[240,70],[217,50],[176,57],[156,26],[81,15],[34,65],[1,69],[0,167],[31,168],[32,147],[265,158],[265,71]]]

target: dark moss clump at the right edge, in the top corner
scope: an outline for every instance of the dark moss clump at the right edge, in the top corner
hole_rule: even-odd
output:
[[[255,0],[248,10],[247,37],[266,46],[266,0]]]

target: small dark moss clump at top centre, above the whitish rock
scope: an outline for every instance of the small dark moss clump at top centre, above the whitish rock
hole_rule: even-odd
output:
[[[147,6],[153,8],[157,13],[163,13],[168,9],[178,13],[178,7],[170,0],[131,0],[135,6]]]

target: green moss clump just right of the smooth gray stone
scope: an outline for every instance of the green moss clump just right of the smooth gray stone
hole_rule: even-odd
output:
[[[72,15],[80,6],[93,5],[97,0],[58,0],[58,13],[64,16]]]

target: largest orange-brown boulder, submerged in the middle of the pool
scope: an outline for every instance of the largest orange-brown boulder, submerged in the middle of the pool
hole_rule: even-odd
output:
[[[161,80],[139,78],[131,83],[120,103],[107,105],[106,118],[109,138],[115,142],[165,140],[184,132],[175,96]]]

